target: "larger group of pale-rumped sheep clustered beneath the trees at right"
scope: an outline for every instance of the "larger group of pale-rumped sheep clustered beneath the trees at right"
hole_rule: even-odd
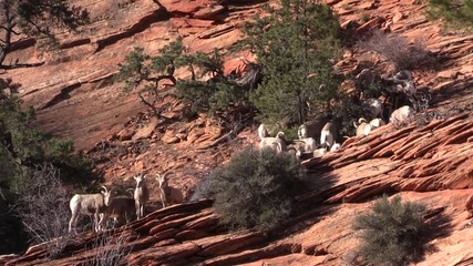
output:
[[[398,105],[398,98],[401,95],[417,108],[425,106],[428,100],[418,93],[415,84],[410,71],[403,70],[394,74],[392,78],[378,76],[369,69],[362,70],[354,79],[354,89],[357,91],[357,99],[364,99],[366,91],[373,84],[380,83],[385,89],[385,92],[392,95],[394,103]],[[426,102],[425,102],[426,101]],[[360,117],[358,123],[353,123],[357,136],[366,136],[372,130],[385,125],[382,119],[384,114],[384,103],[376,98],[364,99],[361,101],[361,106],[366,111],[366,115],[371,117],[367,121]],[[390,112],[389,123],[399,127],[402,124],[410,123],[413,119],[415,111],[409,105],[403,105],[393,112]],[[298,129],[298,140],[292,141],[290,144],[286,143],[284,133],[278,132],[275,136],[270,129],[274,125],[260,124],[258,127],[259,149],[270,147],[277,152],[290,152],[296,157],[301,158],[309,156],[321,156],[329,151],[336,151],[341,147],[341,143],[337,142],[338,131],[341,125],[340,121],[329,120],[327,115],[319,115],[312,121],[306,122]],[[317,143],[317,141],[319,141]]]

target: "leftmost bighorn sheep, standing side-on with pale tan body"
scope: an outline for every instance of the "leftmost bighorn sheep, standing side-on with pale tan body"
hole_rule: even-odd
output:
[[[105,221],[105,212],[112,200],[112,190],[109,192],[105,186],[101,186],[104,192],[96,194],[75,194],[69,206],[71,208],[71,219],[69,221],[69,232],[75,229],[75,224],[80,215],[93,215],[93,229],[102,231]]]

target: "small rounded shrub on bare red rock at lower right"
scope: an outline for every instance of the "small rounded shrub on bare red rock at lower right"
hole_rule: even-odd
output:
[[[361,255],[373,265],[408,265],[419,258],[428,231],[424,212],[422,204],[383,196],[371,212],[354,219],[353,228],[361,231]]]

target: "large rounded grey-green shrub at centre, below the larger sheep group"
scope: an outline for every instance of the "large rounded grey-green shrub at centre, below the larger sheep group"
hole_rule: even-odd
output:
[[[304,177],[289,153],[247,147],[217,167],[203,182],[208,191],[199,193],[215,198],[214,207],[230,229],[268,232],[290,215]]]

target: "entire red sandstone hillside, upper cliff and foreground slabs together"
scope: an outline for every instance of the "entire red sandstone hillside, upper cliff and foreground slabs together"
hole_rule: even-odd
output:
[[[258,3],[75,2],[88,7],[94,18],[85,33],[62,35],[61,49],[52,53],[42,54],[32,45],[18,49],[12,59],[45,64],[7,75],[23,84],[25,103],[39,109],[38,125],[73,139],[79,149],[99,157],[109,182],[126,181],[138,171],[173,170],[177,174],[172,185],[186,192],[233,151],[256,142],[255,129],[248,129],[236,142],[215,149],[214,141],[224,132],[205,116],[162,125],[144,114],[135,95],[121,95],[112,78],[135,45],[155,53],[177,34],[184,37],[189,51],[228,48],[238,40],[241,22],[258,12]],[[383,126],[367,137],[347,140],[340,151],[305,161],[311,182],[297,198],[304,214],[288,221],[271,239],[224,231],[210,202],[202,201],[156,211],[114,232],[112,237],[126,239],[131,247],[124,263],[350,265],[358,245],[351,229],[353,216],[389,193],[425,203],[430,219],[441,223],[441,232],[430,241],[432,250],[419,265],[472,264],[473,229],[466,226],[465,202],[473,194],[473,35],[446,32],[440,22],[425,18],[423,4],[413,1],[327,2],[339,12],[342,24],[368,16],[368,22],[356,28],[359,34],[381,28],[411,40],[421,38],[430,51],[444,58],[433,71],[414,71],[415,83],[433,95],[431,108],[418,121],[432,121],[403,129]],[[354,51],[339,66],[349,71],[364,57]],[[228,60],[229,68],[237,64],[238,60]],[[176,105],[167,115],[178,115],[179,109]],[[44,258],[45,246],[38,246],[19,258],[0,258],[0,263],[85,264],[101,254],[100,248],[92,248],[97,237],[79,235],[64,249],[68,256],[51,262]]]

